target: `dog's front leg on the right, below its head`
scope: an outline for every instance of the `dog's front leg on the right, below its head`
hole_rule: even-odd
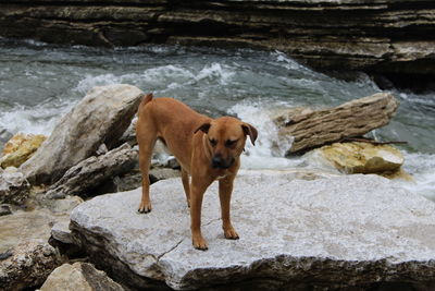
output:
[[[229,175],[219,180],[219,197],[221,199],[222,228],[224,230],[225,238],[229,240],[238,240],[237,231],[234,229],[231,222],[229,215],[234,178],[235,175]]]

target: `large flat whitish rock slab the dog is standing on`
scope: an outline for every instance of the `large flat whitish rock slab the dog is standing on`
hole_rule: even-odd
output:
[[[140,192],[85,202],[70,225],[90,260],[132,289],[368,290],[435,278],[435,204],[382,177],[241,173],[235,241],[224,239],[213,183],[202,206],[207,252],[191,245],[179,179],[151,186],[148,215],[137,214]]]

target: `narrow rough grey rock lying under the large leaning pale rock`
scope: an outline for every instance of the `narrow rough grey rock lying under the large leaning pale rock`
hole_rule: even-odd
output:
[[[49,198],[63,198],[66,195],[87,195],[108,178],[125,173],[135,168],[138,151],[124,144],[102,156],[92,156],[77,163],[47,191]]]

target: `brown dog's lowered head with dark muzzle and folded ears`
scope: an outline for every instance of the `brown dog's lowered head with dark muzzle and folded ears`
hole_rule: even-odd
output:
[[[228,169],[244,150],[249,135],[254,145],[258,132],[251,124],[236,118],[222,117],[201,124],[196,131],[206,133],[206,148],[211,153],[211,167]]]

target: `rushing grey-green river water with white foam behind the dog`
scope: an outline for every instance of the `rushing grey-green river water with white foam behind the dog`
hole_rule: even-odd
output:
[[[196,110],[234,114],[260,132],[243,167],[333,171],[307,157],[282,158],[271,116],[276,110],[340,105],[381,89],[364,74],[345,82],[298,64],[286,54],[149,46],[100,49],[59,47],[0,39],[0,145],[17,132],[49,134],[55,121],[94,86],[132,84],[154,96],[170,96]],[[405,169],[415,182],[396,181],[435,199],[435,93],[394,90],[400,100],[389,125],[372,133],[381,141],[406,141]],[[278,143],[279,149],[273,149]]]

